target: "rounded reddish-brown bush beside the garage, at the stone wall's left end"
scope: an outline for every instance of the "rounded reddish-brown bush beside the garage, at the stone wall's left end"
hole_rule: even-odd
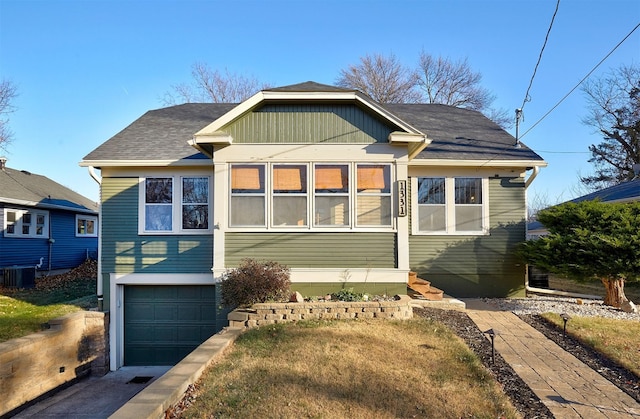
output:
[[[288,301],[291,296],[289,268],[277,262],[243,259],[227,270],[220,282],[222,304],[247,307],[267,301]]]

